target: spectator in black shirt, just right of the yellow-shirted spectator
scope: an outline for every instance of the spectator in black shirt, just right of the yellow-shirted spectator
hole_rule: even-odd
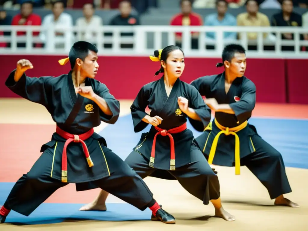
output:
[[[293,12],[293,2],[291,0],[282,0],[281,12],[274,14],[272,18],[272,26],[302,26],[302,16]],[[305,35],[305,37],[307,37]],[[293,40],[293,33],[283,33],[281,39],[284,40]],[[303,35],[300,36],[300,39],[304,39]],[[284,51],[293,51],[294,47],[282,46]]]

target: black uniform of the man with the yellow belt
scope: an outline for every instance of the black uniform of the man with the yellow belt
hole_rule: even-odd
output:
[[[233,130],[238,127],[236,135],[239,138],[239,160],[235,158],[236,137],[234,134],[221,134],[218,139],[213,164],[235,166],[236,161],[245,165],[267,188],[270,198],[274,199],[292,190],[286,176],[285,165],[281,154],[265,142],[257,133],[256,128],[247,123],[256,103],[256,86],[245,76],[237,78],[225,92],[225,73],[200,77],[191,85],[197,88],[206,98],[215,98],[219,104],[229,104],[235,114],[215,113],[215,123],[211,123],[205,131],[196,138],[205,157],[209,160],[211,148],[219,127]],[[217,126],[218,125],[218,126]],[[246,126],[245,126],[246,125]],[[211,161],[209,161],[211,164]]]

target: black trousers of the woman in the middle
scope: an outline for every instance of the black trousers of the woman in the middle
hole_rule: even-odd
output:
[[[189,153],[187,155],[189,155]],[[209,166],[199,148],[192,145],[190,156],[190,164],[176,168],[174,171],[150,167],[149,160],[136,151],[131,152],[125,162],[133,168],[141,178],[155,176],[162,179],[178,180],[188,193],[199,198],[203,201],[203,204],[208,205],[210,200],[216,200],[220,197],[218,177]]]

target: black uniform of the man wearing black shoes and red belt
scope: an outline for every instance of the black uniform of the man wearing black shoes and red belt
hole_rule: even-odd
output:
[[[103,113],[92,100],[76,95],[71,72],[59,77],[30,78],[25,74],[16,83],[13,71],[6,86],[14,93],[46,107],[53,120],[65,132],[80,135],[98,126],[100,121],[114,124],[120,112],[120,103],[109,93],[103,83],[86,79],[86,86],[106,100],[113,115]],[[39,134],[38,134],[39,135]],[[67,147],[67,183],[61,182],[62,151],[65,139],[57,133],[41,148],[43,154],[14,185],[4,207],[28,216],[58,188],[75,183],[79,190],[93,184],[96,187],[144,210],[153,195],[135,171],[107,148],[106,141],[94,133],[84,140],[94,163],[89,167],[82,145],[74,143]]]

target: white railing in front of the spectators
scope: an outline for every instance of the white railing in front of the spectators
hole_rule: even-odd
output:
[[[151,55],[153,50],[175,44],[175,32],[182,32],[182,49],[188,57],[221,57],[226,44],[239,43],[246,49],[248,45],[257,45],[256,51],[247,51],[250,58],[301,58],[308,59],[308,52],[301,51],[308,47],[308,41],[300,40],[301,34],[308,34],[308,29],[300,27],[244,27],[244,26],[101,26],[97,28],[82,27],[49,27],[41,26],[0,26],[0,31],[10,31],[10,36],[0,35],[0,43],[10,43],[10,47],[0,47],[0,55],[33,54],[33,55],[67,55],[72,43],[82,40],[82,33],[96,33],[87,41],[95,43],[99,55],[107,56],[144,56]],[[26,31],[26,35],[17,36],[17,31]],[[39,36],[32,36],[33,31],[41,31]],[[64,37],[54,36],[55,31],[64,33]],[[191,49],[191,31],[200,32],[199,49]],[[104,36],[112,32],[113,36]],[[123,32],[133,32],[134,36],[120,36]],[[216,39],[209,39],[206,32],[215,32]],[[241,34],[239,40],[225,40],[224,32]],[[256,40],[248,40],[247,33],[256,32]],[[275,35],[273,34],[275,33]],[[293,33],[294,40],[282,40],[282,33]],[[266,37],[264,38],[264,34]],[[153,43],[152,46],[149,43]],[[26,43],[18,47],[17,43]],[[33,47],[33,43],[44,43],[43,48]],[[120,44],[133,44],[133,48],[121,48]],[[112,44],[112,48],[104,48],[103,44]],[[206,45],[214,45],[208,50]],[[274,51],[264,51],[263,46],[273,46]],[[293,46],[294,51],[282,51],[282,46]]]

